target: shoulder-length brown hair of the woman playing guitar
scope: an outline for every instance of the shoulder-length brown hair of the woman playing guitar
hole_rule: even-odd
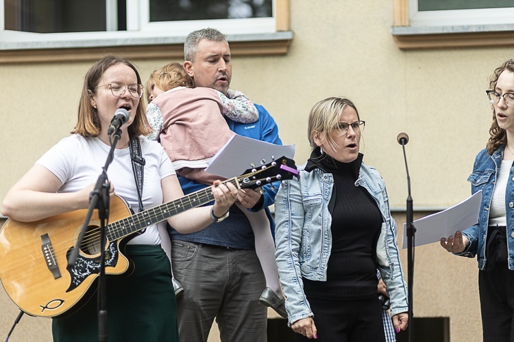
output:
[[[96,94],[98,83],[106,70],[117,64],[125,64],[132,68],[134,73],[136,73],[138,83],[141,83],[141,77],[134,64],[122,57],[106,55],[93,64],[86,73],[86,77],[84,77],[84,85],[82,86],[82,94],[79,100],[77,124],[75,124],[73,131],[71,131],[72,134],[79,134],[84,137],[96,137],[99,135],[101,131],[100,120],[98,118],[97,109],[91,105],[91,96]],[[136,108],[134,122],[128,127],[128,133],[131,137],[151,133],[151,127],[148,123],[145,111],[145,101],[140,100]]]

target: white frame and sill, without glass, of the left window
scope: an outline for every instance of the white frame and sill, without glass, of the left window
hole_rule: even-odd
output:
[[[285,54],[293,38],[289,2],[275,0],[273,18],[191,21],[184,25],[149,23],[149,0],[127,0],[126,31],[36,34],[3,29],[4,0],[0,0],[0,63],[95,60],[106,52],[132,58],[183,57],[187,34],[204,27],[216,27],[227,34],[235,55]],[[112,29],[112,24],[109,27]],[[170,27],[173,36],[169,35]]]

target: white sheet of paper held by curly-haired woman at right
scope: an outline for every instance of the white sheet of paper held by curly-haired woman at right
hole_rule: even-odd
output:
[[[441,237],[454,235],[478,223],[478,213],[482,191],[448,209],[428,215],[413,222],[415,231],[414,246],[432,244],[441,241]],[[402,248],[407,248],[407,224],[404,223]]]

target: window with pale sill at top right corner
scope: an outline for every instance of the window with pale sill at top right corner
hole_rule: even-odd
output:
[[[393,0],[400,49],[513,46],[512,0]]]

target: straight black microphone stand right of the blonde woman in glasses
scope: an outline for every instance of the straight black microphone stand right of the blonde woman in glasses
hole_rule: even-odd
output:
[[[413,340],[413,284],[414,284],[414,240],[416,228],[413,224],[413,198],[411,197],[411,176],[408,174],[407,157],[405,154],[406,139],[400,139],[404,151],[405,170],[407,172],[407,202],[406,202],[406,231],[407,231],[407,291],[408,291],[408,341]]]

